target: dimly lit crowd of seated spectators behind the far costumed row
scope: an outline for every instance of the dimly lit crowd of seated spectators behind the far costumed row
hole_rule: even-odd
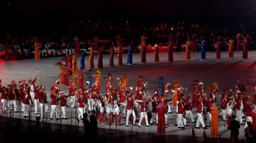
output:
[[[22,33],[25,35],[25,33]],[[131,21],[114,23],[114,21],[78,21],[68,24],[65,28],[50,33],[52,36],[42,36],[40,33],[33,36],[21,36],[12,34],[0,34],[0,59],[30,59],[34,57],[34,37],[40,42],[40,57],[63,56],[75,51],[75,38],[78,37],[80,49],[88,49],[94,46],[94,37],[98,37],[98,46],[108,49],[117,44],[117,36],[121,37],[122,46],[133,43],[139,46],[142,35],[148,37],[147,43],[152,46],[168,45],[174,41],[177,49],[182,50],[182,44],[187,37],[194,44],[192,51],[199,51],[198,43],[202,37],[206,40],[207,51],[215,50],[217,40],[222,41],[222,50],[228,49],[226,42],[229,39],[237,39],[238,34],[248,37],[248,49],[256,49],[255,33],[246,31],[244,25],[238,27],[224,27],[221,24],[213,27],[210,24],[189,24],[187,22],[171,22],[160,24],[142,24]],[[40,36],[38,36],[40,35]],[[6,59],[5,57],[8,57]]]

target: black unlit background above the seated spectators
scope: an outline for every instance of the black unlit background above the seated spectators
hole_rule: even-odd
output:
[[[254,0],[1,0],[0,32],[48,30],[72,21],[197,21],[254,28]]]

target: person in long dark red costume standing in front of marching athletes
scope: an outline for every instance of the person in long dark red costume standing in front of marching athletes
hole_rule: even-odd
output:
[[[159,103],[158,103],[158,128],[157,128],[158,135],[165,134],[166,106],[165,106],[164,101],[165,101],[164,97],[159,97]]]

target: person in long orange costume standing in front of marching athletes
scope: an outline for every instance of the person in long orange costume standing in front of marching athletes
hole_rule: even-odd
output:
[[[211,135],[212,137],[218,137],[218,117],[219,117],[219,110],[216,104],[213,104],[211,107],[211,115],[212,115],[212,122],[211,122]]]

